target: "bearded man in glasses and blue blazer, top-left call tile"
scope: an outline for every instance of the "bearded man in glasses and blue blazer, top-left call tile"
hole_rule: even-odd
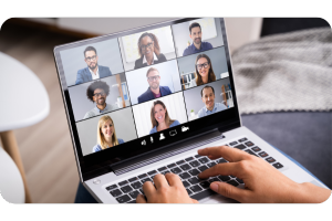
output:
[[[98,56],[95,48],[87,46],[84,50],[84,61],[87,67],[79,70],[75,84],[82,84],[112,75],[110,67],[98,65]]]

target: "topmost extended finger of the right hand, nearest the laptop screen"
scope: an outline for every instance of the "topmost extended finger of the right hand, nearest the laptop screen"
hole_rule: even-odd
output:
[[[247,152],[228,146],[207,147],[205,149],[199,149],[198,155],[209,157],[211,156],[214,159],[222,157],[231,162],[248,158]]]

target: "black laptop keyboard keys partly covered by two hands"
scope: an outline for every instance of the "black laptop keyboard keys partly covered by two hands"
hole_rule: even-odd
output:
[[[229,143],[230,147],[241,149],[250,155],[256,157],[260,157],[266,159],[277,169],[282,168],[283,166],[278,162],[273,157],[269,156],[261,148],[257,147],[253,143],[249,141],[247,138],[241,138],[236,141]],[[197,177],[201,171],[214,167],[217,164],[226,164],[228,162],[224,158],[219,158],[217,160],[210,160],[205,156],[195,155],[193,157],[188,157],[183,160],[178,160],[176,162],[172,162],[167,166],[156,168],[146,173],[139,175],[137,177],[133,177],[127,180],[123,180],[117,183],[113,183],[106,187],[106,190],[110,192],[112,197],[114,197],[120,203],[136,203],[136,197],[138,193],[144,194],[143,192],[143,183],[146,181],[152,181],[157,173],[166,175],[167,172],[176,173],[180,177],[188,194],[190,198],[196,200],[201,200],[206,197],[216,194],[209,186],[210,182],[214,181],[222,181],[235,187],[239,185],[243,185],[243,181],[235,176],[217,176],[210,177],[206,180],[201,180]]]

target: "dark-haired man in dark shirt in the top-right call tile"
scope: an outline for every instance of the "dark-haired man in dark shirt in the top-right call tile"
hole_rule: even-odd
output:
[[[193,44],[185,49],[184,56],[214,49],[209,42],[201,42],[201,28],[199,23],[191,23],[189,25],[189,33]]]

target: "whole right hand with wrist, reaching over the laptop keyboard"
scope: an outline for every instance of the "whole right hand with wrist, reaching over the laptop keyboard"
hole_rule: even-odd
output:
[[[212,182],[210,188],[241,203],[322,203],[331,190],[310,182],[297,183],[277,170],[266,160],[228,146],[198,150],[210,159],[225,158],[229,162],[218,164],[198,175],[208,177],[236,176],[245,182],[245,189],[226,182]]]

